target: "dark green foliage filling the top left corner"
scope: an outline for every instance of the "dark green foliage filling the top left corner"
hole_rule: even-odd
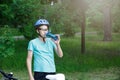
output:
[[[23,28],[25,25],[33,23],[36,15],[38,15],[38,9],[40,9],[40,6],[38,8],[38,6],[35,5],[39,3],[38,1],[40,2],[40,0],[2,1],[2,4],[0,4],[1,25]]]

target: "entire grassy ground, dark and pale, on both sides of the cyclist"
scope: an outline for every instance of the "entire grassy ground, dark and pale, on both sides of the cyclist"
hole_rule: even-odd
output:
[[[120,80],[120,39],[103,42],[100,37],[86,38],[86,52],[81,54],[78,38],[62,38],[63,58],[55,56],[57,72],[67,80]],[[19,80],[28,80],[26,69],[27,40],[16,41],[15,55],[3,60],[3,70],[12,71]]]

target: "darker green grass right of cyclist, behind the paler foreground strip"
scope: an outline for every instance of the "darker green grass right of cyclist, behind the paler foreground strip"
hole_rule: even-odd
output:
[[[62,45],[64,58],[62,61],[57,60],[58,67],[63,68],[60,68],[60,71],[88,71],[95,68],[120,66],[120,42],[87,41],[85,54],[81,54],[79,40],[67,39],[67,41],[64,40],[63,42],[66,42]],[[67,45],[67,42],[70,43],[70,45]],[[63,65],[61,65],[61,63]]]

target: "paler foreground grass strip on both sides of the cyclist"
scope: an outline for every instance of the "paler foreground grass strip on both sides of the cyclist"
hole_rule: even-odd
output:
[[[11,72],[11,70],[6,70]],[[14,70],[14,77],[28,80],[27,70]],[[99,68],[88,72],[65,72],[66,80],[120,80],[120,68]]]

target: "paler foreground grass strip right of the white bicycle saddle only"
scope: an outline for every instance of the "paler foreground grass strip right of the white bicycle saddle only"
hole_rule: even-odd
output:
[[[66,79],[68,80],[119,80],[119,69],[97,69],[90,72],[75,72],[68,73]]]

